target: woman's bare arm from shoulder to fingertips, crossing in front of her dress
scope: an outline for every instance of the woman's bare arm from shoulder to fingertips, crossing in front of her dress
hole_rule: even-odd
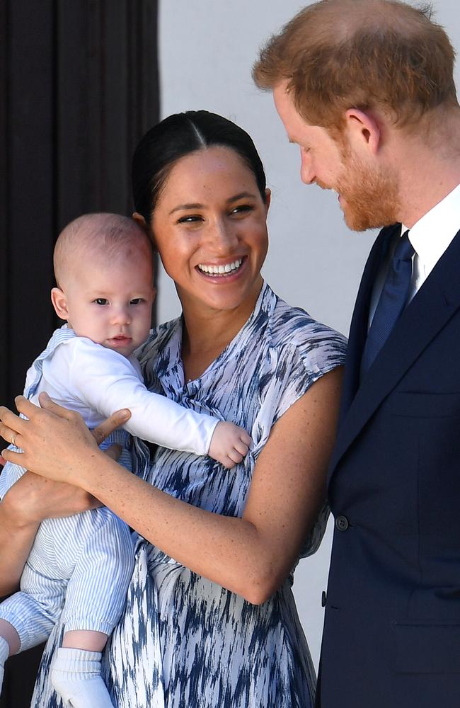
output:
[[[294,566],[326,497],[340,381],[340,370],[318,379],[272,428],[243,518],[190,506],[105,459],[78,416],[55,404],[42,401],[44,411],[18,400],[30,421],[0,409],[0,434],[18,431],[24,462],[38,474],[82,486],[181,564],[263,603]]]

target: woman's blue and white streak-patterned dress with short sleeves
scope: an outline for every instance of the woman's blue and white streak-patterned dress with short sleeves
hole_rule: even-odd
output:
[[[268,285],[253,314],[198,379],[185,383],[182,321],[159,327],[142,348],[149,389],[195,411],[234,421],[253,446],[233,469],[209,457],[159,447],[151,461],[133,442],[137,474],[194,506],[241,517],[253,469],[274,423],[319,377],[343,364],[345,338],[289,307]],[[154,513],[152,511],[152,513]],[[323,510],[303,555],[323,536]],[[184,533],[187,530],[184,529]],[[117,708],[310,708],[314,668],[291,591],[292,576],[263,605],[193,573],[137,539],[125,615],[105,651],[105,680]],[[34,708],[62,704],[47,676],[47,645]]]

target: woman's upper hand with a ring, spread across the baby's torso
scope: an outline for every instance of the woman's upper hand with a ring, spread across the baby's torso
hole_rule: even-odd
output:
[[[8,442],[14,439],[23,452],[3,450],[1,455],[31,472],[75,486],[82,486],[79,472],[84,463],[103,454],[98,444],[130,418],[130,411],[117,411],[90,433],[79,413],[58,406],[47,394],[40,394],[41,408],[24,396],[15,402],[27,420],[0,407],[0,435]]]

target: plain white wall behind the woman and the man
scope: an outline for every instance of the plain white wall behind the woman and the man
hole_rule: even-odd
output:
[[[343,223],[334,193],[299,179],[299,152],[288,144],[270,94],[251,80],[258,47],[309,2],[294,0],[163,0],[160,2],[162,116],[206,108],[241,125],[253,137],[272,190],[270,253],[263,270],[289,304],[347,333],[372,232]],[[458,0],[435,1],[436,19],[460,49]],[[457,70],[457,85],[459,85]],[[180,312],[176,293],[159,276],[159,321]],[[294,583],[299,615],[317,664],[331,529],[320,551],[301,561]]]

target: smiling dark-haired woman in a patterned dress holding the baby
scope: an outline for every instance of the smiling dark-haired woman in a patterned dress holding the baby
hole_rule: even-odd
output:
[[[21,464],[86,490],[140,535],[127,610],[106,655],[118,708],[307,708],[314,671],[290,587],[299,555],[317,547],[326,523],[345,343],[263,282],[270,192],[241,128],[205,111],[163,120],[137,147],[133,183],[134,218],[149,229],[183,307],[142,349],[146,383],[246,428],[251,451],[225,470],[165,448],[149,459],[136,441],[134,476],[73,413],[23,399],[18,410],[29,420],[1,409],[0,433],[8,442],[16,433]],[[26,493],[1,505],[10,535],[22,538],[21,559],[37,518],[62,513],[48,499],[45,513],[35,509],[25,523],[22,512],[11,528]],[[0,576],[4,567],[2,554]],[[56,704],[51,654],[36,707]]]

